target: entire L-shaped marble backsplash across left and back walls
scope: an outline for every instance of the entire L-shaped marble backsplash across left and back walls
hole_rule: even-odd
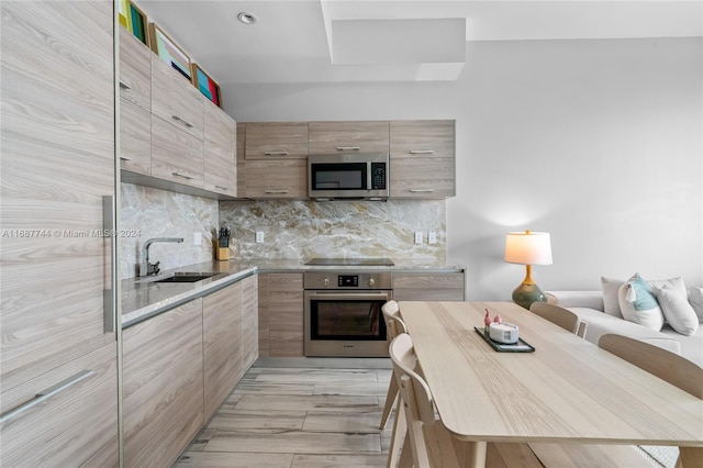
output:
[[[155,243],[152,263],[160,269],[209,261],[220,226],[232,231],[232,258],[355,258],[390,257],[446,261],[446,204],[444,200],[378,201],[216,201],[122,183],[120,229],[136,232],[121,237],[122,278],[134,278],[142,247],[152,237],[182,237],[183,242]],[[257,244],[256,232],[264,232]],[[424,232],[422,244],[414,233]],[[427,243],[435,232],[436,244]],[[202,244],[193,242],[196,233]]]

